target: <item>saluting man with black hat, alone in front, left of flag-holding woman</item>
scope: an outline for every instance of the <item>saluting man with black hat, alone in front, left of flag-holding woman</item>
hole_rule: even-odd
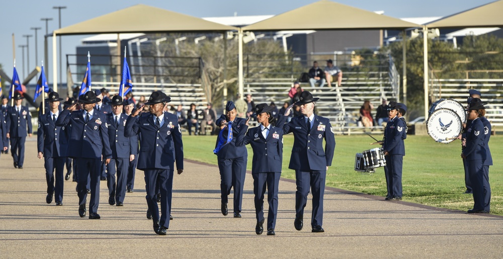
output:
[[[170,101],[171,98],[163,92],[153,92],[145,104],[129,115],[124,131],[126,138],[140,135],[138,169],[145,172],[148,211],[151,212],[153,229],[159,235],[165,235],[170,226],[168,216],[171,215],[175,162],[178,174],[184,168],[182,131],[178,118],[172,113],[163,112],[164,106]],[[150,114],[138,116],[144,105],[149,105]],[[160,217],[156,186],[161,194]]]

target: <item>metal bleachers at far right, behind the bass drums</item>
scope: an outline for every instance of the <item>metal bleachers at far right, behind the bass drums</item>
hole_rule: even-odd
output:
[[[451,98],[466,104],[469,89],[477,89],[487,107],[485,117],[492,126],[503,126],[503,79],[433,79],[432,101]],[[496,127],[496,130],[501,127]]]

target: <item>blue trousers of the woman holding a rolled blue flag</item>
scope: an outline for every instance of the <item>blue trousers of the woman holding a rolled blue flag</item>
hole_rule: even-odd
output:
[[[238,157],[233,159],[218,158],[222,203],[228,202],[230,189],[234,187],[234,213],[241,212],[247,160],[247,157]]]

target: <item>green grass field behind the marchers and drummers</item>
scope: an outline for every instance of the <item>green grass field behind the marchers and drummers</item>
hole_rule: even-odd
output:
[[[215,140],[216,136],[184,136],[185,158],[216,165],[217,159],[213,154]],[[376,148],[369,145],[372,142],[366,135],[336,136],[336,150],[332,166],[327,171],[326,186],[384,197],[386,179],[382,168],[378,168],[373,175],[362,175],[354,171],[355,154]],[[494,166],[489,169],[491,213],[498,215],[503,215],[503,170],[499,163],[503,156],[502,143],[503,136],[492,136],[489,143],[494,161]],[[288,169],[292,146],[293,136],[285,136],[282,177],[289,179],[295,179],[295,172]],[[247,168],[251,170],[253,153],[247,147]],[[473,196],[464,194],[464,170],[459,141],[446,145],[435,143],[429,136],[407,136],[405,154],[403,200],[457,210],[473,207]]]

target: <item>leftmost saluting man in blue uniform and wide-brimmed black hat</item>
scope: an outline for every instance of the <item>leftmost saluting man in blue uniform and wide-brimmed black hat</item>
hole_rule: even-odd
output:
[[[88,196],[88,177],[91,179],[91,200],[89,202],[89,218],[100,219],[98,205],[100,204],[100,172],[101,161],[110,162],[112,150],[108,140],[105,114],[94,110],[100,99],[95,93],[88,91],[78,98],[83,110],[70,113],[67,108],[61,111],[56,120],[57,126],[71,126],[68,141],[67,156],[77,163],[77,195],[78,215],[86,216],[86,199]],[[72,106],[76,106],[73,104]]]

